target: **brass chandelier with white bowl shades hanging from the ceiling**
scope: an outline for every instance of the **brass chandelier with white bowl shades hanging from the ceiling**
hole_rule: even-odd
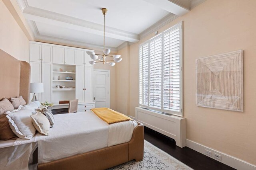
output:
[[[93,61],[89,61],[90,64],[94,65],[96,63],[108,63],[110,66],[114,66],[116,63],[120,62],[122,60],[121,55],[108,55],[110,53],[110,49],[105,49],[105,16],[107,14],[107,9],[106,8],[102,8],[102,14],[104,15],[104,39],[103,39],[103,55],[102,54],[95,54],[94,52],[91,52],[91,51],[86,51],[86,53],[88,55],[90,55],[91,59]],[[98,55],[102,56],[102,57],[98,57]],[[108,57],[113,57],[112,60],[108,60],[106,61],[106,56]],[[114,61],[114,62],[112,62]]]

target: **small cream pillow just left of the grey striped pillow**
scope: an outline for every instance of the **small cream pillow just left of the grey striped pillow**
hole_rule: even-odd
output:
[[[32,117],[32,123],[39,133],[49,135],[50,122],[43,113],[36,111],[36,114],[30,115],[30,117]]]

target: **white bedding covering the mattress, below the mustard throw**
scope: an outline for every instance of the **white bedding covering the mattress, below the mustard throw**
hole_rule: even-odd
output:
[[[48,136],[36,133],[32,140],[18,138],[0,147],[38,141],[38,163],[45,163],[128,142],[138,125],[135,121],[108,125],[91,111],[54,115],[54,119]]]

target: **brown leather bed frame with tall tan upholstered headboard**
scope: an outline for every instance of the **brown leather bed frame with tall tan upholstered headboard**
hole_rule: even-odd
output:
[[[0,49],[0,100],[22,96],[29,102],[30,65]],[[40,150],[39,150],[40,152]],[[106,147],[60,160],[39,164],[39,170],[104,170],[130,160],[142,160],[144,126],[138,123],[128,143]]]

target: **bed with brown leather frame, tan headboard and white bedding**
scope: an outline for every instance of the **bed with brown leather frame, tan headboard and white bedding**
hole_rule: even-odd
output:
[[[0,100],[23,96],[29,102],[30,65],[0,50]],[[37,133],[32,140],[0,141],[0,146],[38,141],[39,170],[100,170],[142,160],[144,127],[136,121],[107,125],[92,112],[54,115],[49,136]]]

